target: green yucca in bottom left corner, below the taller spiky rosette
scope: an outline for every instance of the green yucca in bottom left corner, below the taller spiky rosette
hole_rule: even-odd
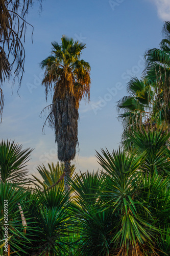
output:
[[[28,193],[22,188],[17,188],[12,183],[0,183],[0,240],[3,246],[0,249],[1,255],[7,255],[4,247],[5,243],[5,227],[8,227],[8,255],[27,255],[27,249],[30,248],[30,240],[27,238],[24,232],[32,229],[29,218],[27,218],[27,211],[25,205],[27,204]],[[4,200],[7,200],[5,204]],[[22,225],[21,214],[18,208],[18,202],[22,207],[22,212],[26,216],[27,227]],[[7,225],[6,225],[7,224]],[[7,234],[7,233],[6,233]]]

